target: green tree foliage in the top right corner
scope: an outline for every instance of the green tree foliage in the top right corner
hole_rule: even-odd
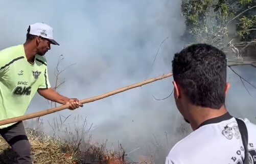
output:
[[[256,0],[182,0],[181,14],[190,43],[211,42],[216,36],[256,38]]]

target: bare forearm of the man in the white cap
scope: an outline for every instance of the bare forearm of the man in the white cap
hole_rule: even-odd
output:
[[[39,95],[44,97],[45,99],[60,103],[60,104],[66,104],[68,102],[68,98],[60,95],[58,92],[56,92],[53,88],[49,88],[46,90],[38,90]]]

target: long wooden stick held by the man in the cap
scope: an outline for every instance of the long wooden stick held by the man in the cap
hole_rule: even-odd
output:
[[[106,97],[115,95],[117,93],[129,90],[129,89],[132,89],[132,88],[136,88],[136,87],[139,87],[139,86],[143,86],[145,84],[152,83],[152,82],[157,81],[157,80],[168,78],[170,76],[172,76],[172,73],[168,73],[168,74],[165,74],[165,75],[162,75],[162,76],[158,76],[158,77],[155,77],[155,78],[152,78],[152,79],[149,79],[149,80],[146,80],[146,81],[142,81],[142,82],[139,82],[139,83],[136,83],[136,84],[128,85],[126,87],[107,92],[103,95],[99,95],[99,96],[95,96],[95,97],[92,97],[92,98],[81,100],[80,102],[82,104],[94,102],[96,100],[104,99]],[[59,107],[56,107],[56,108],[51,108],[51,109],[47,109],[47,110],[43,110],[43,111],[39,111],[39,112],[27,114],[27,115],[18,116],[16,118],[1,120],[0,125],[6,125],[6,124],[10,124],[10,123],[15,123],[15,122],[18,122],[18,121],[37,118],[39,116],[43,116],[43,115],[54,113],[54,112],[57,112],[57,111],[60,111],[60,110],[63,110],[63,109],[67,109],[68,107],[69,107],[69,105],[62,105],[62,106],[59,106]]]

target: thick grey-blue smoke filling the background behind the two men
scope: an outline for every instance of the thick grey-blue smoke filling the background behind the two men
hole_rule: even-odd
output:
[[[0,48],[24,43],[27,28],[34,22],[52,26],[60,46],[52,45],[45,55],[50,82],[54,86],[54,68],[62,54],[61,68],[76,64],[61,74],[60,80],[65,78],[65,83],[58,91],[81,100],[143,81],[151,69],[148,78],[171,72],[173,55],[184,46],[180,40],[184,31],[180,4],[179,0],[1,1]],[[159,45],[167,37],[152,67]],[[248,75],[251,76],[255,79],[253,71]],[[229,112],[255,123],[255,90],[247,85],[250,97],[234,73],[229,72],[229,77]],[[160,80],[42,119],[47,127],[47,122],[60,114],[72,114],[70,121],[79,114],[87,118],[88,125],[93,123],[93,140],[108,139],[113,145],[119,140],[127,152],[149,146],[153,134],[160,140],[166,132],[171,141],[181,118],[173,96],[157,101],[152,95],[159,99],[167,97],[173,88],[172,80]],[[48,108],[48,102],[36,95],[27,113]]]

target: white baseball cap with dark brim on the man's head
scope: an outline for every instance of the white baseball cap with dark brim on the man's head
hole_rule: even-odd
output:
[[[35,23],[30,25],[28,28],[28,33],[31,35],[41,36],[52,42],[52,44],[60,45],[53,39],[53,28],[44,23]]]

